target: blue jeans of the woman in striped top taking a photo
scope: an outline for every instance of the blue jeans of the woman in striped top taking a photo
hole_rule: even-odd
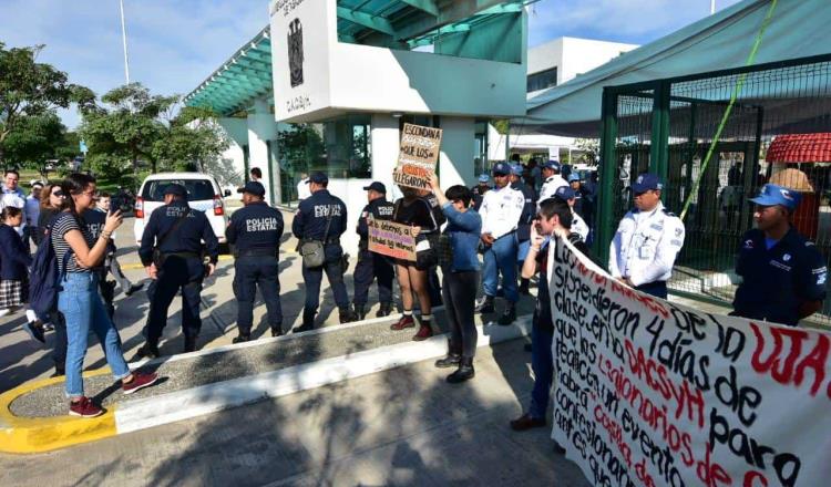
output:
[[[99,278],[93,272],[70,272],[61,282],[63,290],[58,294],[58,310],[63,313],[66,323],[66,396],[84,395],[81,377],[86,340],[92,330],[101,342],[106,363],[115,380],[130,375],[130,367],[121,351],[121,338],[106,313],[104,302],[99,296]]]

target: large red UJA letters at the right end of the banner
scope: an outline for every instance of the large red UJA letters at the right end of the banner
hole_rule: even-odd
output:
[[[817,334],[817,344],[806,356],[802,356],[802,342],[810,336],[808,332],[796,328],[769,327],[766,329],[773,338],[773,350],[767,359],[762,359],[767,344],[766,333],[753,322],[750,322],[750,329],[756,335],[756,350],[750,362],[753,370],[760,374],[770,374],[780,384],[793,383],[800,386],[806,377],[806,371],[810,369],[813,371],[810,393],[815,396],[825,381],[825,364],[829,348],[831,348],[829,338],[824,334]],[[789,339],[790,345],[787,349],[786,338]],[[829,385],[828,396],[831,397],[831,385]]]

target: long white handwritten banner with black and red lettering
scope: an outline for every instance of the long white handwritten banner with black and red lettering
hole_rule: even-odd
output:
[[[552,437],[593,485],[829,485],[829,333],[669,303],[566,241],[550,252]]]

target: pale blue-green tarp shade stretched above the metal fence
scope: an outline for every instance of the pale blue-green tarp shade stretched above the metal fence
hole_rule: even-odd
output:
[[[527,101],[526,116],[512,124],[526,134],[599,137],[604,86],[743,66],[771,1],[737,3],[540,92]],[[756,64],[831,53],[829,24],[829,0],[779,0]]]

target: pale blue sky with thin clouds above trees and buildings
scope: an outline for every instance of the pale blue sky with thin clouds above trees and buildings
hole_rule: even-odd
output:
[[[130,79],[187,94],[268,23],[267,0],[123,0]],[[739,0],[716,0],[718,10]],[[709,14],[709,0],[541,0],[529,45],[560,37],[644,44]],[[0,0],[0,42],[45,44],[38,61],[96,94],[124,83],[117,0]],[[61,111],[69,127],[74,110]]]

